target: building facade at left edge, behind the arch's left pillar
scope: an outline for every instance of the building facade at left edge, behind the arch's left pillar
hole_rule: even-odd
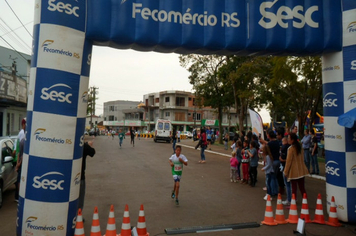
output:
[[[27,115],[31,56],[0,47],[0,136],[17,135]]]

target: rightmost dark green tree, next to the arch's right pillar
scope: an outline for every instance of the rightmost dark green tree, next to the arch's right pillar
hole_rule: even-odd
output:
[[[311,110],[313,119],[321,106],[321,59],[310,56],[275,57],[273,61],[273,78],[268,84],[273,93],[270,108],[276,114],[294,113],[302,136],[308,111]]]

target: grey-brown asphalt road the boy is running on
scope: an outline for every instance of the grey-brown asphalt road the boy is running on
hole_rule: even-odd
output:
[[[85,232],[90,234],[94,207],[99,209],[102,234],[105,233],[110,205],[115,208],[116,229],[120,233],[125,204],[129,206],[131,226],[137,225],[140,205],[144,205],[147,230],[151,236],[165,235],[165,229],[189,228],[244,222],[260,223],[264,219],[266,202],[263,200],[265,176],[258,173],[256,187],[230,183],[229,153],[221,146],[206,152],[207,162],[199,164],[199,150],[191,140],[182,140],[182,153],[188,158],[180,187],[180,206],[171,199],[173,179],[168,158],[172,145],[154,143],[152,139],[124,139],[119,149],[118,138],[106,136],[94,139],[96,155],[87,158],[87,192],[83,217]],[[260,169],[260,168],[259,168]],[[325,204],[325,181],[306,178],[309,212],[314,218],[318,193],[323,196],[324,216],[328,218]],[[15,189],[4,193],[4,206],[0,210],[0,235],[15,235]],[[301,199],[300,195],[298,196]],[[285,199],[285,196],[283,196]],[[276,199],[272,201],[275,211]],[[300,212],[301,200],[298,201]],[[288,218],[289,211],[284,210]],[[326,225],[307,224],[307,235],[355,235],[355,225],[334,228]],[[206,232],[203,235],[293,235],[296,225],[265,226],[232,231]],[[185,234],[187,236],[193,235]],[[195,233],[194,233],[195,235]]]

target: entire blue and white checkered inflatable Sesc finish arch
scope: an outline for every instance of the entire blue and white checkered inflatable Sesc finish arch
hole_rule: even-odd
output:
[[[356,223],[356,1],[36,0],[33,35],[17,235],[74,234],[93,45],[323,55],[326,200]]]

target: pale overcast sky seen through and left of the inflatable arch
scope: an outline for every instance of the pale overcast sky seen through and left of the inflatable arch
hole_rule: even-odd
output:
[[[0,46],[31,54],[34,2],[0,0]],[[144,94],[165,90],[193,92],[189,73],[179,65],[178,56],[94,46],[89,86],[99,92],[96,115],[103,114],[108,101],[142,101]],[[263,109],[260,114],[263,122],[270,121],[268,111]]]

